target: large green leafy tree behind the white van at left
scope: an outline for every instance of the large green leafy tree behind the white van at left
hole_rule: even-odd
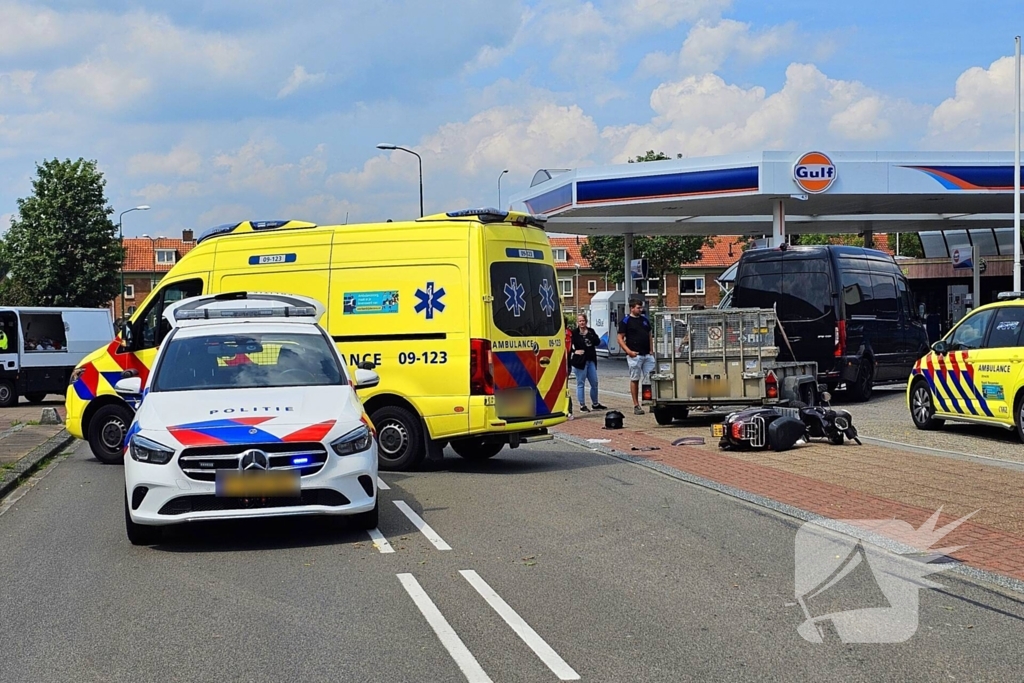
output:
[[[11,296],[42,306],[102,307],[121,289],[122,248],[96,162],[36,165],[4,240]],[[3,290],[0,289],[0,293]]]

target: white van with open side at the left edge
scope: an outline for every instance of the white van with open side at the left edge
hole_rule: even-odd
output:
[[[75,366],[113,339],[106,308],[0,307],[0,408],[63,394]]]

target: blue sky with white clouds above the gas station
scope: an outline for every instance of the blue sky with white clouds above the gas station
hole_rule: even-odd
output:
[[[0,230],[95,159],[126,234],[497,203],[646,150],[1005,150],[1021,0],[0,0]]]

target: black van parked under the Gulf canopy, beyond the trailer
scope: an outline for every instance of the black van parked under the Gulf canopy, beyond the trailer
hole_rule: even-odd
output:
[[[739,259],[732,307],[776,307],[779,359],[818,364],[830,388],[856,400],[874,384],[905,382],[928,351],[906,279],[885,252],[860,247],[756,249]]]

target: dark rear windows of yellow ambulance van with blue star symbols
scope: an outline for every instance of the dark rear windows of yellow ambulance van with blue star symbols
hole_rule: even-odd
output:
[[[495,325],[509,337],[554,337],[562,329],[555,269],[547,263],[490,264]]]

